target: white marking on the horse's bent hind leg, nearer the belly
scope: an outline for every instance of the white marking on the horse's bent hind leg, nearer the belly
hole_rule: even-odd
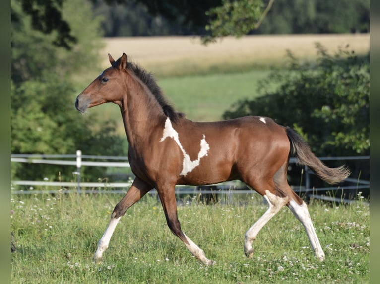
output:
[[[265,211],[265,213],[253,224],[253,226],[247,230],[245,234],[245,242],[244,242],[244,252],[248,257],[251,257],[253,254],[252,243],[256,239],[258,232],[264,227],[268,221],[277,214],[278,211],[282,207],[288,203],[289,197],[278,197],[269,192],[269,190],[265,191],[264,198],[268,201],[269,208]]]

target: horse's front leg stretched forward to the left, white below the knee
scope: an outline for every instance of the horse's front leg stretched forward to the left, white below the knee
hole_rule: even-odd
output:
[[[116,225],[118,224],[120,218],[126,213],[127,209],[136,203],[142,196],[152,189],[151,186],[146,184],[144,181],[136,177],[130,186],[127,194],[122,200],[115,206],[114,211],[111,214],[111,220],[108,224],[103,237],[99,240],[98,248],[95,252],[95,261],[100,260],[103,256],[103,252],[108,248],[112,234],[115,231]]]

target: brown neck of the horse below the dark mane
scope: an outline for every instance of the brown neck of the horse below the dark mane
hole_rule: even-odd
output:
[[[149,90],[138,80],[129,77],[127,90],[120,106],[129,145],[142,145],[163,121],[163,112]]]

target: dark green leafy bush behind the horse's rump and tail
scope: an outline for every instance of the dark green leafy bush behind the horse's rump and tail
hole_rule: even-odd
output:
[[[368,155],[369,55],[339,49],[332,56],[322,46],[316,48],[315,63],[302,64],[289,53],[288,72],[272,73],[262,81],[260,97],[235,103],[223,116],[273,117],[303,134],[317,155]]]

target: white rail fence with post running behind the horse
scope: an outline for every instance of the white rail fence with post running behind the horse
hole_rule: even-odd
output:
[[[87,161],[83,161],[83,159],[87,159]],[[331,161],[331,160],[369,160],[369,156],[350,156],[350,157],[319,157],[322,161]],[[89,161],[90,160],[90,161]],[[111,161],[96,161],[96,160],[114,160],[118,162]],[[37,155],[37,154],[11,154],[11,162],[12,163],[30,163],[30,164],[53,164],[53,165],[63,165],[63,166],[76,166],[76,171],[73,171],[73,174],[77,176],[76,182],[53,182],[53,181],[12,181],[11,188],[13,186],[44,186],[44,190],[15,190],[12,189],[12,194],[42,194],[42,193],[72,193],[72,192],[81,192],[81,193],[125,193],[127,188],[131,185],[131,182],[81,182],[80,180],[80,172],[81,167],[118,167],[125,168],[130,167],[127,157],[116,157],[116,156],[96,156],[96,155],[82,155],[81,151],[78,150],[76,155]],[[295,158],[290,158],[290,164],[296,163]],[[315,195],[314,192],[323,192],[330,190],[349,190],[349,189],[369,189],[370,182],[366,180],[359,180],[357,178],[348,178],[346,182],[353,183],[351,186],[340,187],[324,187],[314,189],[310,185],[310,176],[314,175],[314,173],[304,167],[305,174],[305,186],[297,186],[294,187],[294,190],[299,193],[304,193],[305,195],[313,195],[313,198],[325,199],[325,200],[335,200],[335,201],[343,201],[343,202],[351,202],[352,200],[342,198],[335,198],[330,196],[321,196]],[[231,190],[237,187],[237,183],[234,182],[225,182],[215,185],[210,185],[214,188],[218,188],[218,190],[203,190],[201,187],[194,186],[176,186],[175,192],[176,194],[195,194],[199,193],[199,189],[203,194],[249,194],[255,193],[254,190]],[[210,187],[208,186],[208,187]],[[68,190],[67,188],[76,188],[72,190]],[[59,188],[57,190],[47,189],[47,188]],[[82,188],[90,188],[86,190],[82,190]],[[99,190],[101,188],[108,188],[107,190]],[[115,190],[115,188],[119,188]],[[96,190],[94,190],[96,189]],[[122,190],[124,189],[124,190]],[[154,190],[152,191],[155,192]]]

